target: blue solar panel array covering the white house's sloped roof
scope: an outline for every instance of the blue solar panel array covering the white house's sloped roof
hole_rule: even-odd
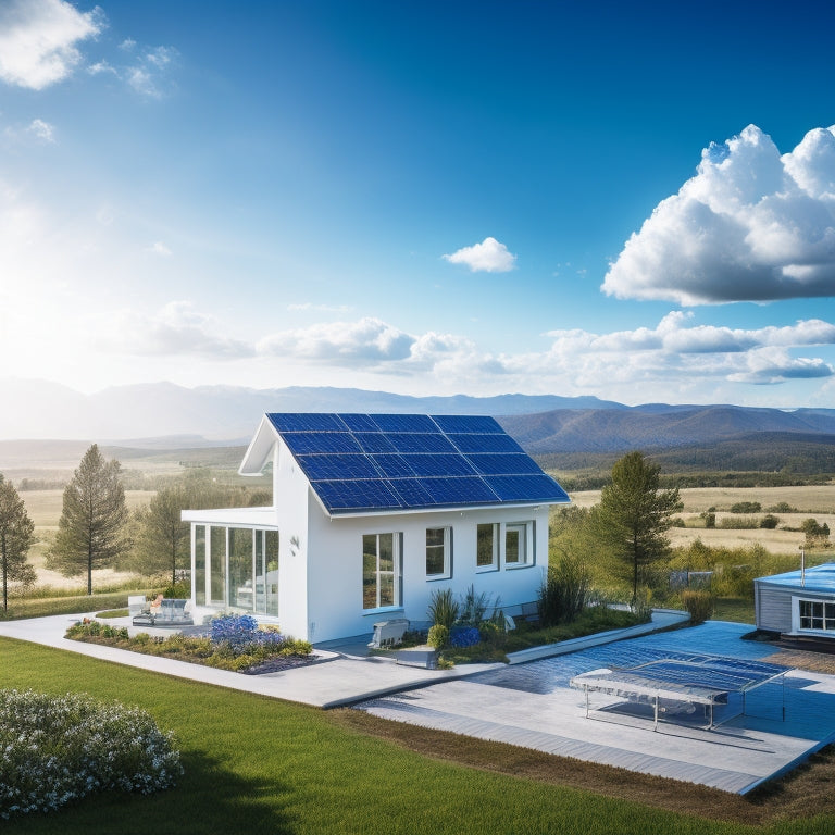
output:
[[[278,413],[267,419],[331,514],[569,501],[493,418]]]

